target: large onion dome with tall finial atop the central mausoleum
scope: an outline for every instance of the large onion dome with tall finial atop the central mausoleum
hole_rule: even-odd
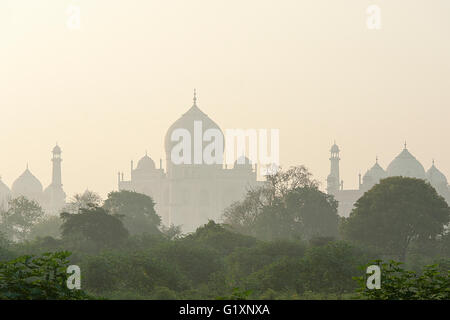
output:
[[[194,137],[194,122],[201,122],[202,132],[201,137]],[[218,129],[221,133],[222,145],[225,146],[224,135],[220,127],[209,118],[200,108],[197,106],[197,97],[194,92],[194,104],[192,107],[183,114],[177,121],[175,121],[170,128],[167,130],[165,139],[164,139],[164,147],[166,151],[166,158],[169,161],[171,159],[172,148],[177,145],[179,142],[172,141],[172,134],[176,129],[186,129],[191,136],[191,163],[194,163],[194,141],[197,138],[202,141],[202,151],[204,148],[211,143],[211,141],[203,141],[203,134],[208,129]],[[223,152],[223,150],[222,150]]]

